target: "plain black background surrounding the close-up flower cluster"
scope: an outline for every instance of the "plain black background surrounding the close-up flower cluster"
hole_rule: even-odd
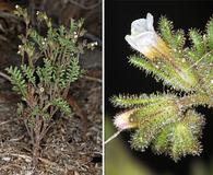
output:
[[[205,28],[205,24],[213,14],[211,1],[105,1],[105,114],[114,116],[118,108],[109,103],[109,97],[115,94],[153,93],[166,88],[162,83],[146,75],[144,72],[131,67],[127,57],[135,54],[125,36],[130,34],[130,25],[133,20],[145,18],[147,12],[154,16],[155,28],[161,15],[166,15],[174,22],[175,28],[187,32],[191,27]],[[206,125],[201,139],[203,152],[200,156],[181,159],[175,163],[168,156],[155,155],[150,149],[145,152],[135,152],[130,149],[129,132],[122,133],[123,142],[130,153],[145,163],[151,170],[163,174],[171,172],[179,175],[189,174],[190,165],[194,160],[210,163],[213,153],[213,110],[199,107],[198,110],[206,116]],[[113,118],[113,117],[111,117]]]

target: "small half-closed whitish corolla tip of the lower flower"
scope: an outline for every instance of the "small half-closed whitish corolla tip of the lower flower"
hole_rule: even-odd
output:
[[[135,128],[138,126],[137,122],[131,121],[130,116],[133,114],[135,109],[130,109],[123,112],[115,117],[114,124],[119,130]]]

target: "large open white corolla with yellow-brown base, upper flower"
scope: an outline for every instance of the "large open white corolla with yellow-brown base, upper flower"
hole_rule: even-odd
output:
[[[169,58],[170,52],[166,43],[155,33],[153,15],[147,13],[146,19],[139,19],[131,24],[131,35],[125,39],[130,46],[149,59]]]

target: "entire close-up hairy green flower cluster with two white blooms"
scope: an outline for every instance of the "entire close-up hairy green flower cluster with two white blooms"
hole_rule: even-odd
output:
[[[133,149],[144,151],[151,147],[155,153],[178,161],[202,151],[199,139],[205,119],[194,107],[213,106],[213,20],[203,35],[190,30],[191,45],[187,46],[182,30],[175,31],[173,23],[162,16],[155,32],[153,19],[147,13],[146,19],[132,22],[131,35],[125,38],[137,54],[129,57],[129,62],[168,90],[113,96],[114,106],[125,109],[116,115],[114,124],[119,131],[134,130],[130,141]]]

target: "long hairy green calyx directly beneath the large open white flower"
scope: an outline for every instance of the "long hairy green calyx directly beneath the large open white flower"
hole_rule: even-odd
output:
[[[189,65],[177,62],[174,67],[163,60],[162,62],[152,62],[137,56],[130,57],[129,62],[145,70],[149,74],[152,73],[157,81],[162,80],[173,89],[189,92],[197,85],[197,77],[192,69],[189,69]]]

